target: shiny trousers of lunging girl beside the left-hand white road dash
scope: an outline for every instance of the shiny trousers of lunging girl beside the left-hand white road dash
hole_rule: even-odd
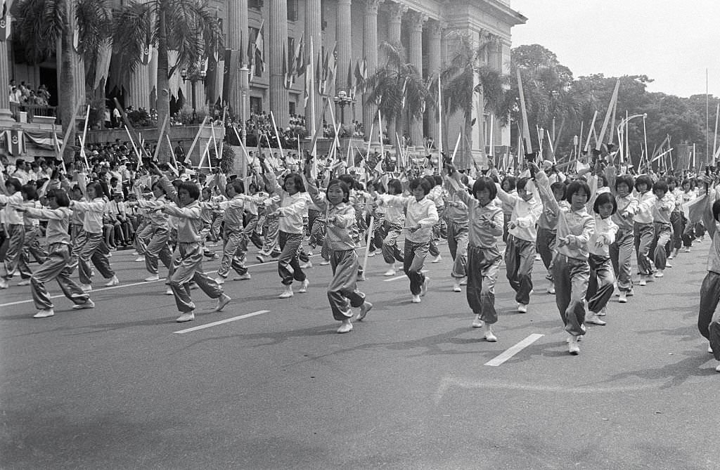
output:
[[[195,309],[190,297],[190,281],[194,281],[211,299],[222,295],[220,284],[202,271],[202,256],[202,244],[178,243],[178,254],[173,260],[176,268],[170,276],[169,284],[180,312],[192,312]]]

